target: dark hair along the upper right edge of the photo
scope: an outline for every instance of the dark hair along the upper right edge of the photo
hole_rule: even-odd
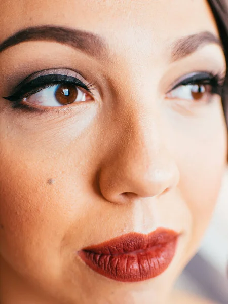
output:
[[[208,0],[214,14],[220,39],[223,44],[226,65],[228,67],[228,0]],[[224,89],[222,93],[222,105],[226,117],[226,125],[228,129],[228,71],[226,73]]]

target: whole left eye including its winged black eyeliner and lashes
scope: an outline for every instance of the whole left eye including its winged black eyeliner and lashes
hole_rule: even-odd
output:
[[[93,90],[95,83],[88,83],[78,72],[51,69],[31,74],[15,87],[11,96],[3,98],[11,102],[13,109],[61,111],[67,105],[69,108],[74,103],[95,101]]]

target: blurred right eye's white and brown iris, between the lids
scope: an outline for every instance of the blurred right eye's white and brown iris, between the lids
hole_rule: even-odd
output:
[[[212,87],[204,84],[180,85],[167,93],[167,98],[193,101],[207,101],[212,94]]]

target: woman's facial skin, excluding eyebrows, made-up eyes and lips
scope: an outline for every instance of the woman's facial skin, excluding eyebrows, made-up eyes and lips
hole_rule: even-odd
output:
[[[226,67],[212,44],[171,63],[167,43],[218,36],[207,2],[2,0],[0,12],[0,43],[26,27],[61,25],[104,37],[110,56],[43,41],[0,54],[1,304],[177,303],[171,290],[212,215],[227,134],[218,95],[210,104],[164,96],[189,72]],[[96,101],[37,115],[2,98],[31,73],[59,67],[96,81]],[[157,227],[182,236],[154,279],[117,282],[75,257]]]

